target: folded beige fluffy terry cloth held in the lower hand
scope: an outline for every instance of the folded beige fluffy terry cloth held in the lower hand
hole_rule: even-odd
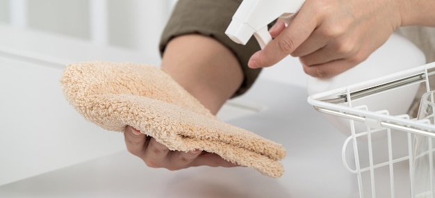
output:
[[[67,65],[60,79],[67,101],[109,131],[133,126],[173,151],[201,149],[279,177],[282,145],[222,122],[160,67],[136,63]]]

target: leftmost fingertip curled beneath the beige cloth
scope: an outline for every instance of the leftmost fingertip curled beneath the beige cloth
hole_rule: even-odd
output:
[[[124,129],[124,141],[127,150],[135,155],[142,156],[145,152],[147,136],[131,126]]]

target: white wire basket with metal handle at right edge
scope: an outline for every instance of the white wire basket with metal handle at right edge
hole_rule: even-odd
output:
[[[348,85],[343,88],[313,94],[309,104],[325,113],[349,137],[343,144],[343,164],[356,175],[359,197],[435,197],[434,147],[435,125],[416,119],[408,112],[392,113],[388,108],[371,108],[373,100],[379,104],[393,104],[388,98],[416,90],[423,83],[431,91],[429,77],[435,76],[435,63],[407,69],[378,79]],[[391,94],[395,92],[395,94]],[[399,94],[397,94],[399,93]],[[371,101],[370,101],[371,100]],[[425,151],[414,152],[417,137],[428,140]],[[425,192],[418,192],[420,181],[415,169],[418,158],[427,158]],[[356,196],[358,196],[356,195]]]

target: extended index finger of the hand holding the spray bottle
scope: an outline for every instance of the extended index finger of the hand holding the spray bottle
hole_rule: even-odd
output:
[[[277,38],[266,45],[263,50],[251,56],[248,66],[251,68],[270,67],[292,53],[306,38],[309,38],[317,26],[316,17],[311,16],[310,13],[302,6],[293,22]]]

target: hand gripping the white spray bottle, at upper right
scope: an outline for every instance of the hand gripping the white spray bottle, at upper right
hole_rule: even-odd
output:
[[[291,1],[291,0],[289,0]],[[393,0],[306,0],[293,20],[277,22],[275,39],[249,60],[249,67],[269,67],[289,54],[304,72],[328,78],[366,60],[395,28],[401,13]]]

